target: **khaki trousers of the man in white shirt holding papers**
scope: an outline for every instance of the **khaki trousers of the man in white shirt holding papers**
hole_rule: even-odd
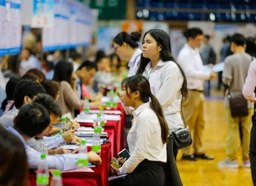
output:
[[[183,155],[203,154],[204,95],[198,91],[190,91],[182,105],[184,119],[193,139],[192,145],[182,150]]]

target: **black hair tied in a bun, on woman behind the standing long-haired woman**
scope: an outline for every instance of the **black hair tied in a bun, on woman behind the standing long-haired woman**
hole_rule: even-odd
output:
[[[139,44],[137,43],[141,38],[141,33],[132,32],[131,34],[127,32],[120,32],[113,39],[114,43],[118,45],[122,45],[123,43],[127,43],[132,48],[138,48]]]

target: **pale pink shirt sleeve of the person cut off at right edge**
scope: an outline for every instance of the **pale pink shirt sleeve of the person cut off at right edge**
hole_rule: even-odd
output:
[[[247,100],[254,101],[255,100],[255,90],[256,87],[256,60],[253,60],[250,64],[248,75],[246,77],[244,87],[243,87],[243,95]]]

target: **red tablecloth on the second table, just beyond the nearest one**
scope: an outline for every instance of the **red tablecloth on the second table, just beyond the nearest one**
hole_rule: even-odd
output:
[[[112,143],[112,156],[117,157],[117,154],[121,151],[121,134],[122,132],[122,122],[121,121],[107,121],[105,124],[105,131],[110,131],[109,129],[113,129],[114,137],[110,139]],[[87,126],[87,127],[92,127],[92,123],[79,123],[81,126]]]

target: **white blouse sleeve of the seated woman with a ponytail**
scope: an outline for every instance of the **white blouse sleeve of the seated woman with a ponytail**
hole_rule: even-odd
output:
[[[126,173],[131,173],[134,169],[147,158],[148,154],[148,143],[151,137],[153,123],[152,118],[144,115],[138,116],[135,119],[136,122],[136,143],[134,153],[129,157],[129,159],[124,162],[124,165],[118,170],[117,174],[122,175]],[[135,124],[135,123],[134,123]]]

